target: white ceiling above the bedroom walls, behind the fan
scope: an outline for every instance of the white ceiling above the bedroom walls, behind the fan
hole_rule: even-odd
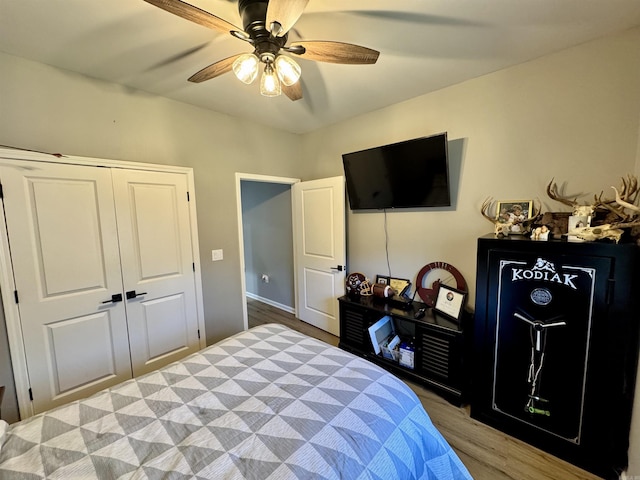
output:
[[[242,26],[233,0],[190,3]],[[375,65],[300,59],[297,102],[232,73],[187,82],[251,46],[143,0],[0,0],[0,51],[305,133],[637,25],[640,0],[311,0],[290,43],[381,53]]]

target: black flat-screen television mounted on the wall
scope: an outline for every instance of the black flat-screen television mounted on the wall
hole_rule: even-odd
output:
[[[447,134],[342,155],[352,210],[448,207]]]

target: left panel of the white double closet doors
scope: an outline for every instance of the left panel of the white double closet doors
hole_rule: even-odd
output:
[[[0,181],[34,411],[131,378],[110,170],[12,162]]]

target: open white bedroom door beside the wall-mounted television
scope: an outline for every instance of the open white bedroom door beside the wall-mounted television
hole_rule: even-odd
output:
[[[340,334],[338,297],[344,293],[344,177],[293,185],[297,315]]]

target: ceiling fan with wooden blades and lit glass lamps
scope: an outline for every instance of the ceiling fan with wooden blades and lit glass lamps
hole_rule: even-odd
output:
[[[184,19],[250,43],[251,53],[240,53],[215,62],[189,78],[200,83],[232,71],[244,83],[252,83],[264,64],[260,93],[273,97],[284,91],[291,100],[302,98],[300,66],[283,52],[317,62],[373,64],[380,52],[343,42],[302,41],[287,45],[288,32],[309,0],[238,0],[243,28],[182,0],[145,0]]]

